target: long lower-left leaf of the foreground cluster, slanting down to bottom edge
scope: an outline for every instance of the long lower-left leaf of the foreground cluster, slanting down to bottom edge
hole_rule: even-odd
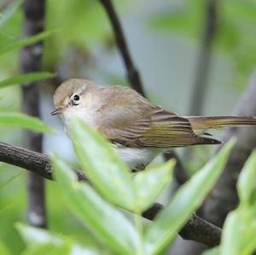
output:
[[[73,212],[113,251],[134,254],[139,237],[125,216],[102,200],[89,184],[79,183],[73,171],[61,159],[54,157],[53,162],[56,180]]]

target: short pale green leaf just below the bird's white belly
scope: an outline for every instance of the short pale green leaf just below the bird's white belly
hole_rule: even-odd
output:
[[[162,165],[148,166],[144,171],[137,172],[134,178],[137,211],[143,212],[152,206],[160,193],[172,180],[175,160]]]

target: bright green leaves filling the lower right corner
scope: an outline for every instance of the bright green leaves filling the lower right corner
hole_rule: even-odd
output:
[[[224,223],[221,244],[205,255],[250,255],[256,249],[256,151],[244,165],[237,183],[240,204]]]

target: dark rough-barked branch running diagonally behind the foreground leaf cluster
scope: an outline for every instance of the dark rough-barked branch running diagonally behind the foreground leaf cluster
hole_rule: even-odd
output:
[[[19,166],[41,177],[52,180],[51,162],[46,154],[36,153],[26,148],[19,148],[0,142],[0,161]],[[88,180],[83,171],[74,171],[76,171],[79,180]],[[143,213],[143,217],[153,220],[162,208],[162,205],[155,203],[147,212]],[[198,241],[207,246],[217,246],[220,242],[221,229],[194,215],[179,234],[184,239]]]

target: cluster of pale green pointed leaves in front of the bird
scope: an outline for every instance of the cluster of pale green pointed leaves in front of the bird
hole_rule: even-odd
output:
[[[67,206],[96,238],[119,254],[159,254],[201,205],[224,169],[234,144],[234,141],[230,141],[188,183],[179,188],[154,222],[143,229],[140,216],[154,202],[152,197],[159,196],[166,187],[165,177],[170,183],[173,161],[131,177],[127,166],[114,154],[113,148],[89,126],[77,120],[70,135],[80,159],[80,167],[84,171],[86,169],[93,187],[80,183],[70,167],[55,156],[55,178],[61,193],[67,200]],[[125,217],[119,207],[133,212],[134,223]]]

